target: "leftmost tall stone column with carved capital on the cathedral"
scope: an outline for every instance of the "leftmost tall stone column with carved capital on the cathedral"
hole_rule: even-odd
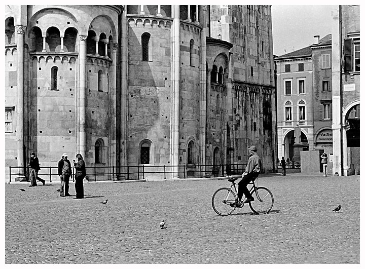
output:
[[[22,167],[19,169],[19,176],[17,181],[22,181],[24,177],[24,33],[26,27],[22,25],[15,26],[15,31],[18,38],[17,50],[18,50],[18,66],[17,66],[17,97],[18,104],[16,107],[17,112],[17,127],[16,127],[16,137],[18,144],[18,154],[17,154],[17,165]]]

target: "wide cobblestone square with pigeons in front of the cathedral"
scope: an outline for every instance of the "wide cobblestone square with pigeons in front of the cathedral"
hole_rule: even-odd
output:
[[[85,183],[83,200],[5,185],[6,263],[360,262],[359,176],[262,177],[272,211],[226,217],[211,197],[227,180]]]

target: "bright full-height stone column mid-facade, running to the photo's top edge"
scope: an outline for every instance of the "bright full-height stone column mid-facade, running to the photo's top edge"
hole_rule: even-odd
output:
[[[179,109],[180,109],[180,6],[171,6],[172,28],[171,28],[171,134],[170,134],[170,165],[179,165]],[[172,171],[177,171],[172,167]],[[178,178],[178,172],[173,173]]]

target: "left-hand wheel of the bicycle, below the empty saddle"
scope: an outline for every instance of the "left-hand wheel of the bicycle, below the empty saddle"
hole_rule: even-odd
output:
[[[213,194],[212,206],[221,216],[228,216],[236,209],[236,194],[229,188],[220,188]]]

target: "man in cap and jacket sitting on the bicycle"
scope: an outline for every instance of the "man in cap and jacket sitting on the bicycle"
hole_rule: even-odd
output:
[[[249,203],[251,201],[254,201],[253,197],[249,193],[247,184],[251,182],[251,180],[257,178],[261,172],[261,159],[257,153],[257,148],[255,146],[250,146],[248,148],[248,151],[249,151],[248,163],[244,173],[242,174],[242,179],[238,182],[238,192],[237,192],[238,203],[236,203],[236,206],[238,207],[243,206],[241,202],[243,194],[246,197],[243,203]]]

